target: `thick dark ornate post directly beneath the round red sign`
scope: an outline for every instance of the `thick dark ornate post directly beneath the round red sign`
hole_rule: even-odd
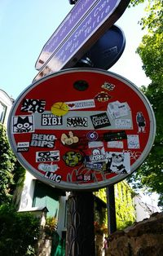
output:
[[[92,192],[71,192],[68,196],[66,256],[95,256]]]

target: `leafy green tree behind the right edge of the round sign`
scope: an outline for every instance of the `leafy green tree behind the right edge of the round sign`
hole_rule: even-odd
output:
[[[160,195],[159,205],[163,206],[163,2],[160,0],[133,0],[133,5],[147,2],[147,16],[140,21],[146,34],[137,53],[143,61],[143,70],[151,79],[148,87],[142,86],[156,116],[156,139],[146,161],[132,179],[136,188],[145,187],[149,192]]]

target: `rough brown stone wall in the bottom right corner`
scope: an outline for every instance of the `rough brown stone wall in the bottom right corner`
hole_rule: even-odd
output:
[[[109,236],[109,256],[163,256],[163,213]]]

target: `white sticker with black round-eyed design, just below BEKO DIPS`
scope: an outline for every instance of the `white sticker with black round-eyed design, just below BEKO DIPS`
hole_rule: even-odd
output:
[[[36,152],[36,161],[59,161],[59,150]]]

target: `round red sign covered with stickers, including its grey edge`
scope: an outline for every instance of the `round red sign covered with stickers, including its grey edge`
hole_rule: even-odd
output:
[[[155,118],[124,77],[69,69],[29,86],[15,101],[8,135],[20,163],[66,190],[94,190],[125,179],[148,156]]]

